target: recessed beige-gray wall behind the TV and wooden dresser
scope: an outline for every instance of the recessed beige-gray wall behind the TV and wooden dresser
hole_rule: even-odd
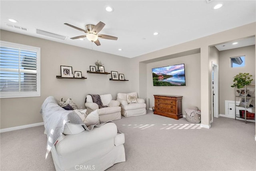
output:
[[[186,86],[153,86],[152,68],[183,64],[185,65]],[[182,95],[182,114],[185,109],[197,106],[201,109],[200,97],[200,54],[182,56],[169,60],[147,64],[147,97],[150,99],[150,108],[154,106],[154,94]]]

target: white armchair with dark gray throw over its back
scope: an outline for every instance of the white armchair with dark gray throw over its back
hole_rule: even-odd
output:
[[[111,94],[100,95],[101,101],[103,105],[108,107],[103,107],[99,109],[97,103],[94,103],[91,95],[86,95],[86,103],[85,106],[87,108],[87,113],[91,113],[92,111],[98,111],[100,121],[113,121],[116,119],[121,119],[121,107],[120,102],[116,100],[112,100]]]

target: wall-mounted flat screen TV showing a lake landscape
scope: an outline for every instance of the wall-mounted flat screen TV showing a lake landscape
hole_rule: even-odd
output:
[[[154,86],[184,86],[184,64],[152,68]]]

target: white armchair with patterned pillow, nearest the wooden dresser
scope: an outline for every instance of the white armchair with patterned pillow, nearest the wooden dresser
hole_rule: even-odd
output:
[[[116,100],[120,102],[121,114],[124,117],[144,115],[147,113],[145,100],[138,98],[136,92],[117,93]]]

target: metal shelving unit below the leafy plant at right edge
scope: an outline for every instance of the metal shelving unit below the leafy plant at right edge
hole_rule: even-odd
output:
[[[245,121],[253,121],[255,122],[255,114],[254,117],[247,117],[248,109],[250,109],[252,112],[255,113],[255,85],[245,85],[244,88],[238,90],[235,87],[235,119],[242,119]],[[244,94],[241,92],[244,90]],[[239,91],[239,93],[238,93]],[[247,92],[248,91],[248,92]],[[237,104],[236,101],[239,99],[240,103]],[[253,102],[253,103],[252,103]],[[250,104],[253,104],[253,106],[250,106]],[[237,114],[236,107],[242,107],[244,111],[244,117],[241,117],[240,112]],[[240,110],[242,111],[242,110]]]

